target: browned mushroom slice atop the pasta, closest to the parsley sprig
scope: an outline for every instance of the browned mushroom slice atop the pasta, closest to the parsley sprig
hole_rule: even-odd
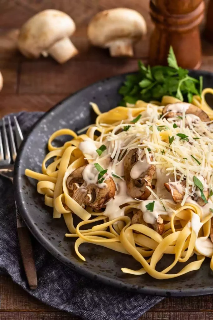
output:
[[[210,121],[209,116],[200,108],[194,106],[191,103],[186,102],[176,102],[168,104],[163,108],[162,113],[165,114],[165,118],[173,118],[175,116],[181,116],[185,110],[185,114],[191,114],[199,117],[201,121],[208,122]]]

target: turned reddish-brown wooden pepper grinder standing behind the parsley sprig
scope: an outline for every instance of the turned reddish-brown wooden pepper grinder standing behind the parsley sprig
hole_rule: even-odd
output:
[[[178,65],[198,69],[201,65],[199,24],[202,0],[151,0],[150,15],[155,24],[149,48],[150,65],[167,65],[172,45]]]

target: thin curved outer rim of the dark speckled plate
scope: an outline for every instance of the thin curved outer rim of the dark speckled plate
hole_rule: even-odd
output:
[[[206,71],[206,70],[189,70],[189,72],[195,72],[195,73],[202,73],[203,75],[211,75],[213,78],[213,72]],[[180,296],[198,296],[198,295],[206,295],[206,294],[211,294],[213,293],[213,287],[205,287],[205,288],[185,288],[185,289],[171,289],[171,290],[166,290],[164,288],[159,288],[159,287],[154,287],[154,286],[146,286],[146,287],[139,287],[137,285],[129,284],[126,282],[123,282],[122,280],[116,280],[112,279],[108,276],[104,276],[101,274],[97,274],[93,272],[92,270],[86,269],[78,263],[78,261],[75,263],[73,261],[70,261],[67,257],[65,257],[51,242],[48,241],[44,236],[42,236],[41,231],[37,226],[34,225],[34,223],[30,220],[30,216],[27,214],[25,208],[24,208],[24,203],[21,198],[21,194],[19,193],[19,181],[21,178],[21,173],[19,169],[19,164],[20,160],[22,157],[22,153],[24,150],[24,147],[30,138],[31,134],[33,133],[34,129],[40,125],[42,120],[45,117],[48,117],[49,113],[51,113],[53,110],[57,109],[60,105],[62,105],[66,100],[70,99],[73,96],[76,96],[80,92],[82,92],[85,89],[88,89],[94,85],[100,84],[102,85],[104,81],[115,79],[115,78],[120,78],[127,76],[129,74],[136,74],[138,71],[135,72],[128,72],[124,74],[119,74],[116,76],[112,77],[107,77],[102,80],[99,80],[95,83],[92,83],[86,87],[81,88],[80,90],[70,94],[69,96],[65,97],[63,100],[59,101],[56,105],[54,105],[52,108],[50,108],[48,111],[46,111],[41,118],[39,118],[35,124],[32,126],[31,130],[28,132],[28,134],[25,136],[24,140],[22,141],[17,158],[14,164],[14,196],[15,196],[15,201],[18,205],[19,211],[21,213],[21,216],[23,220],[25,221],[27,228],[30,230],[32,235],[36,238],[36,240],[50,253],[52,254],[57,260],[61,261],[63,264],[68,266],[69,268],[73,269],[74,271],[80,273],[83,276],[86,276],[92,280],[95,281],[100,281],[103,284],[106,285],[111,285],[113,287],[119,288],[119,289],[125,289],[127,291],[132,291],[132,292],[138,292],[138,293],[143,293],[143,294],[148,294],[148,295],[157,295],[157,296],[163,296],[163,297],[180,297]],[[163,281],[163,280],[162,280]]]

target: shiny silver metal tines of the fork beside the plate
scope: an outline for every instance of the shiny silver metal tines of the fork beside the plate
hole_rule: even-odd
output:
[[[5,120],[7,120],[8,130],[6,128]],[[13,116],[13,122],[14,126],[12,127],[10,116],[2,119],[2,130],[0,130],[0,165],[10,164],[11,158],[12,161],[15,162],[17,156],[16,149],[19,148],[21,141],[23,140],[23,135],[16,116]]]

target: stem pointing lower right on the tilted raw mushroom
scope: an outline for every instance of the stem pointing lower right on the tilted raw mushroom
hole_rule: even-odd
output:
[[[69,38],[63,38],[53,44],[48,53],[59,63],[64,63],[78,53]]]

